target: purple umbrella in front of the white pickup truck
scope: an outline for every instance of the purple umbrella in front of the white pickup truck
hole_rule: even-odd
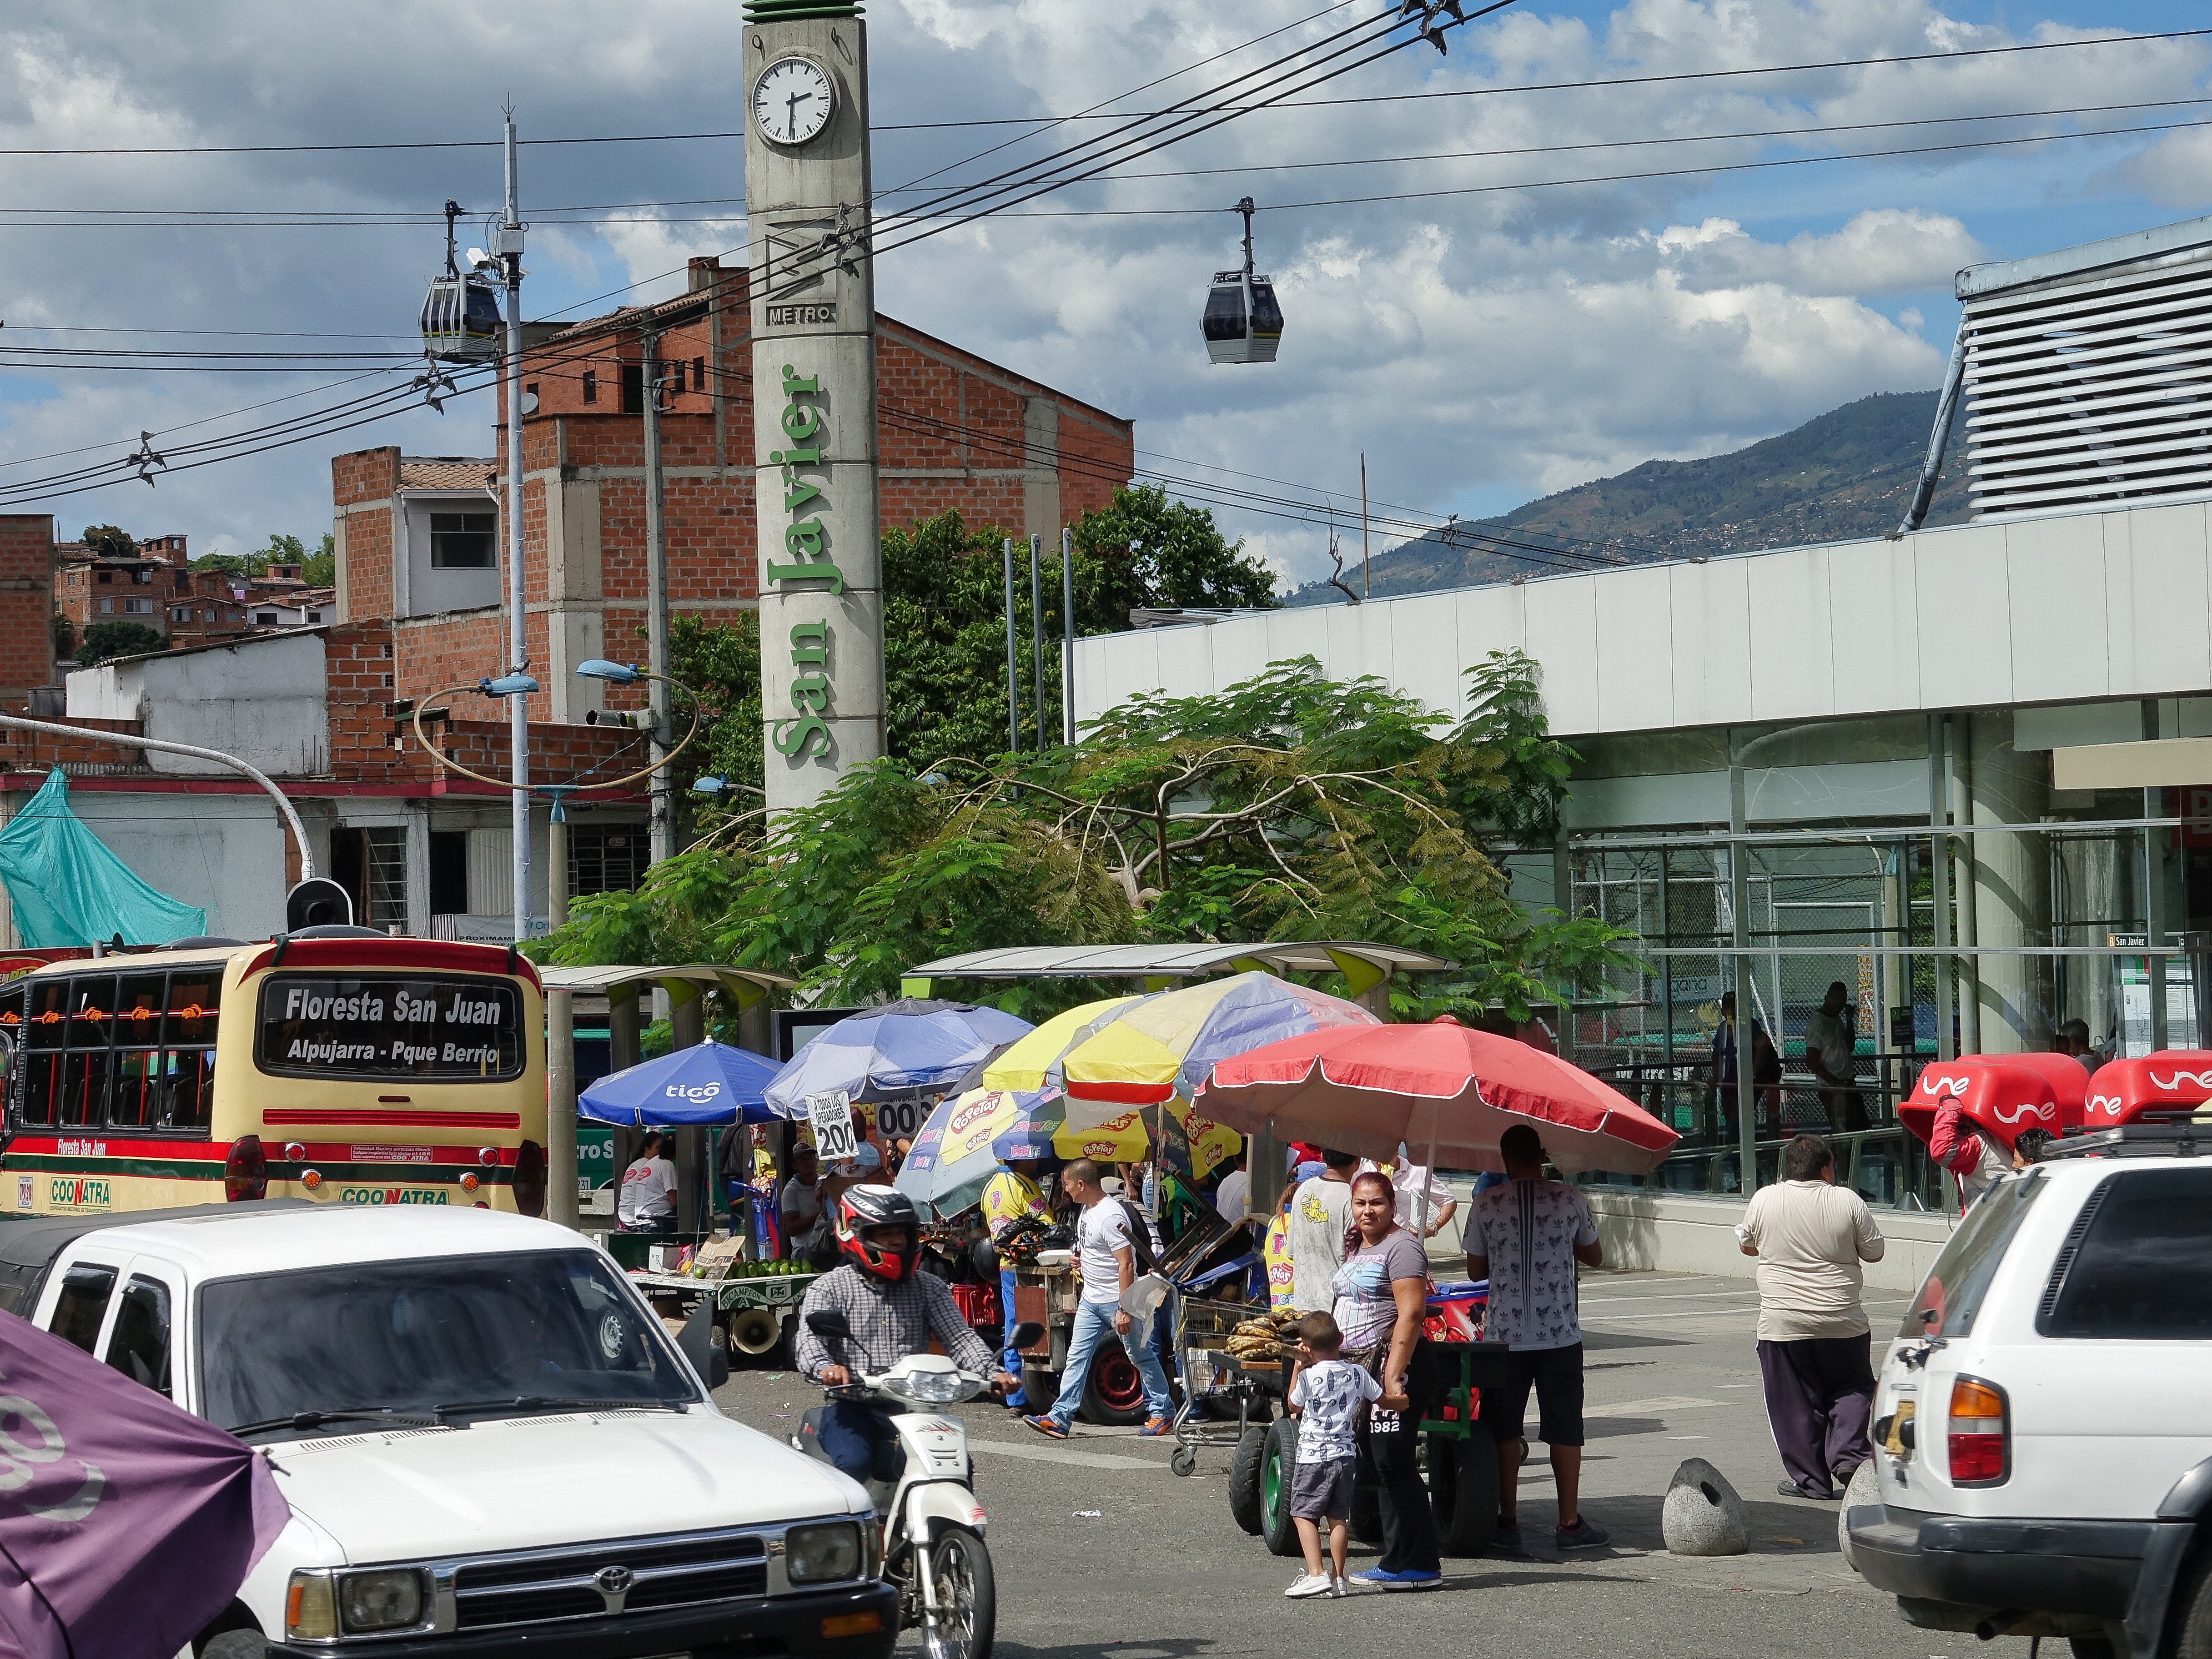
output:
[[[290,1515],[246,1444],[0,1314],[0,1652],[170,1659]]]

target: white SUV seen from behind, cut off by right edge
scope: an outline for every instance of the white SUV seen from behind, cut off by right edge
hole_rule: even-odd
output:
[[[1874,1416],[1882,1502],[1845,1526],[1907,1621],[2212,1659],[2212,1133],[2075,1135],[2000,1181]]]

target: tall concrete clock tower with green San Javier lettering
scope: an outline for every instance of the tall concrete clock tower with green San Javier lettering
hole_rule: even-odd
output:
[[[858,4],[745,4],[745,252],[770,814],[883,754],[876,276]]]

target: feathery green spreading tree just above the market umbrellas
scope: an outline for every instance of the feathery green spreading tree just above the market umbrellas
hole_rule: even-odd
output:
[[[1500,717],[1504,719],[1504,714]],[[885,759],[757,834],[759,810],[577,900],[557,962],[719,960],[830,1000],[896,993],[914,962],[987,945],[1363,938],[1458,967],[1405,1013],[1604,993],[1630,967],[1595,918],[1526,916],[1482,849],[1526,787],[1484,739],[1312,659],[1219,697],[1137,697],[1044,754]],[[975,987],[1037,1018],[1093,987]]]

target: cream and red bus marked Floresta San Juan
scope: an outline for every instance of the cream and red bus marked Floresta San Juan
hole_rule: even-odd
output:
[[[349,927],[124,949],[0,984],[0,1210],[544,1212],[544,998],[511,949]]]

